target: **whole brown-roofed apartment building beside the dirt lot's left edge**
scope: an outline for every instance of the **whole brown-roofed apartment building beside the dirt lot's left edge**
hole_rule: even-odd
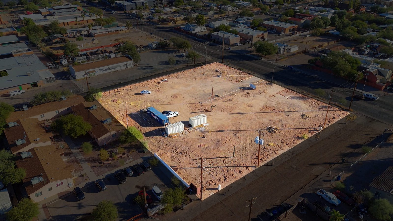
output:
[[[82,116],[84,121],[92,125],[88,133],[99,146],[118,139],[125,129],[98,101],[79,103],[71,109],[75,115]]]

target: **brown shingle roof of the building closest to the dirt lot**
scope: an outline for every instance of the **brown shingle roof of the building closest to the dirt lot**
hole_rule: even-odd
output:
[[[88,107],[97,105],[97,109],[89,110]],[[125,127],[116,120],[98,101],[84,102],[71,107],[76,115],[82,116],[83,120],[92,125],[91,132],[98,139],[109,132],[122,131]],[[102,123],[103,120],[111,118],[112,122]]]

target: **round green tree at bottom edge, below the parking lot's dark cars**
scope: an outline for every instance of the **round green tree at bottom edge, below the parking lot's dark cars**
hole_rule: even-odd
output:
[[[115,221],[118,218],[118,209],[111,201],[101,201],[92,212],[93,221]]]

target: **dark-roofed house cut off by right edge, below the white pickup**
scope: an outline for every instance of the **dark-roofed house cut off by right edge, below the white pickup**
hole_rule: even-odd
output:
[[[375,177],[369,186],[376,197],[393,203],[393,166],[389,166],[381,175]]]

